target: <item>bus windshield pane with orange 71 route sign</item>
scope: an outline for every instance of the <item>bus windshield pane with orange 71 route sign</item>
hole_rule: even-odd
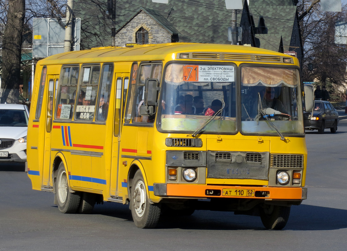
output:
[[[159,109],[163,131],[236,132],[235,65],[170,64]]]

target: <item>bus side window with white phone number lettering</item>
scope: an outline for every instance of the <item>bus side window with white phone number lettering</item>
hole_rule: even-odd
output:
[[[81,68],[78,87],[78,103],[75,120],[93,120],[96,107],[96,94],[100,79],[100,65],[86,65]]]

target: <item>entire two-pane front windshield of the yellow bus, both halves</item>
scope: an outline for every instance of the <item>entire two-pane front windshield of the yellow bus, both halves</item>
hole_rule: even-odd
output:
[[[159,128],[171,132],[236,133],[236,66],[170,64]],[[241,67],[241,131],[303,134],[296,68]]]

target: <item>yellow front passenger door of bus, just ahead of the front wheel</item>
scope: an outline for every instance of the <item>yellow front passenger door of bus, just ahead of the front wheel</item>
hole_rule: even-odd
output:
[[[113,136],[112,136],[112,160],[110,177],[110,196],[116,198],[121,189],[118,184],[119,173],[119,145],[121,138],[122,122],[124,121],[125,98],[129,85],[128,74],[116,74],[115,109],[113,114]]]

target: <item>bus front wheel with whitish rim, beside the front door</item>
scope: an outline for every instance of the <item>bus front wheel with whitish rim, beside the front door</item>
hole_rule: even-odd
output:
[[[160,204],[151,204],[147,197],[144,178],[137,170],[130,189],[130,209],[138,228],[154,228],[159,221]]]

